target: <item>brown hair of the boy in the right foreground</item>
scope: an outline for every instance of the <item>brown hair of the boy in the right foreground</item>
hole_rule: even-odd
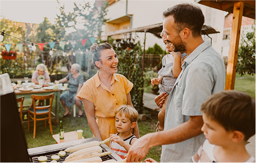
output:
[[[222,91],[203,102],[201,111],[226,131],[241,131],[244,140],[255,134],[255,100],[240,91]]]

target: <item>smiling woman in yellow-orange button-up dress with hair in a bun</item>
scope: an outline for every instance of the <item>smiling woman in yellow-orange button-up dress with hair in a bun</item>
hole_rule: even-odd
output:
[[[115,129],[114,114],[118,106],[128,104],[133,107],[130,95],[133,84],[125,76],[117,74],[118,58],[110,44],[94,43],[90,51],[98,72],[85,82],[77,97],[83,101],[94,137],[105,140],[110,134],[118,132]],[[138,124],[133,134],[139,137]]]

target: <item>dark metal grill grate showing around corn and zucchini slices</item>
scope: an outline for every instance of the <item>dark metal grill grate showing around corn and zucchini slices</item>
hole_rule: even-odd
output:
[[[107,150],[105,150],[104,147],[102,147],[101,145],[100,145],[100,147],[102,148],[102,152],[107,152]],[[65,150],[65,149],[62,149],[62,150]],[[39,156],[46,156],[46,157],[47,157],[47,162],[51,162],[51,161],[52,161],[51,156],[53,156],[53,155],[58,155],[59,151],[60,151],[60,150],[53,151],[53,152],[46,152],[46,153],[38,154],[37,156],[33,156],[33,157],[31,158],[31,162],[33,162],[33,163],[39,163],[39,161],[38,161],[38,157],[39,157]],[[56,160],[56,161],[57,161],[58,163],[63,163],[63,162],[65,161],[65,158],[66,158],[67,156],[69,156],[69,154],[70,154],[70,153],[66,152],[66,156],[60,157],[59,160]],[[102,161],[111,160],[111,159],[117,161],[112,155],[101,156],[100,158],[102,159]]]

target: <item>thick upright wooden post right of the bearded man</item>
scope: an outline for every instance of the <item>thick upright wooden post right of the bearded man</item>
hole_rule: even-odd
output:
[[[236,2],[233,9],[233,21],[230,38],[230,52],[227,66],[227,76],[225,90],[233,90],[236,79],[236,64],[238,56],[238,46],[240,38],[240,30],[243,17],[243,2]]]

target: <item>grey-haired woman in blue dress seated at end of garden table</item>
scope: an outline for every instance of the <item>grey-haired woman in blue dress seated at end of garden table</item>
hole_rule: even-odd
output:
[[[78,117],[83,116],[82,101],[77,98],[77,94],[81,90],[84,83],[84,76],[79,73],[80,69],[81,67],[79,64],[73,64],[71,65],[71,72],[65,78],[55,80],[55,83],[56,81],[59,81],[59,83],[64,83],[68,81],[69,85],[69,90],[60,96],[61,104],[66,110],[65,114],[63,114],[62,117],[70,116],[71,113],[68,107],[74,104],[76,104],[79,108]]]

